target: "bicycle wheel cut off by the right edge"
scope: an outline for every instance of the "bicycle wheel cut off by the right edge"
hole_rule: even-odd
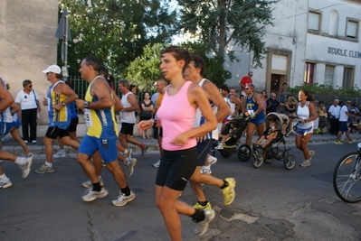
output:
[[[338,198],[348,203],[361,201],[361,153],[348,153],[336,164],[333,185]]]

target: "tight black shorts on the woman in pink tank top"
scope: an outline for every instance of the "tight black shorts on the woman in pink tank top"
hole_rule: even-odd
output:
[[[185,185],[195,172],[197,151],[195,147],[179,150],[163,150],[157,172],[156,184],[172,190],[185,190]]]

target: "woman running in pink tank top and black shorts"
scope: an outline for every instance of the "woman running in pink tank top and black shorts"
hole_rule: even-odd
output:
[[[171,239],[182,240],[179,214],[193,218],[197,223],[197,235],[203,235],[214,218],[213,209],[195,209],[178,197],[195,171],[195,137],[214,130],[217,121],[203,89],[197,84],[187,82],[183,77],[190,53],[172,46],[162,51],[160,60],[160,69],[165,79],[170,81],[170,85],[165,88],[162,105],[157,111],[163,128],[164,151],[157,172],[156,202]],[[201,109],[206,122],[193,128],[197,107]],[[152,124],[152,120],[140,122],[139,131],[144,131]]]

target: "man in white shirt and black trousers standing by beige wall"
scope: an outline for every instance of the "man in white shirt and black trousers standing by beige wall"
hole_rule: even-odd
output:
[[[42,107],[40,107],[38,94],[33,90],[32,80],[25,79],[23,81],[23,90],[17,94],[15,103],[19,104],[20,109],[22,110],[19,117],[22,119],[24,142],[27,144],[31,141],[33,144],[36,144],[36,119],[38,114],[42,111]]]

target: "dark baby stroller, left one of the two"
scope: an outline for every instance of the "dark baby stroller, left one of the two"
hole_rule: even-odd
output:
[[[235,128],[233,128],[231,136],[228,137],[228,139],[223,144],[223,149],[215,149],[215,147],[220,144],[221,141],[214,142],[211,150],[212,155],[214,155],[215,150],[217,150],[224,158],[228,158],[235,152],[238,145],[238,140],[241,138],[243,131],[248,125],[249,116],[240,115],[233,118],[233,120],[236,121],[236,126],[234,126]],[[223,132],[228,133],[231,129],[231,121],[227,122],[225,125],[226,126]]]

